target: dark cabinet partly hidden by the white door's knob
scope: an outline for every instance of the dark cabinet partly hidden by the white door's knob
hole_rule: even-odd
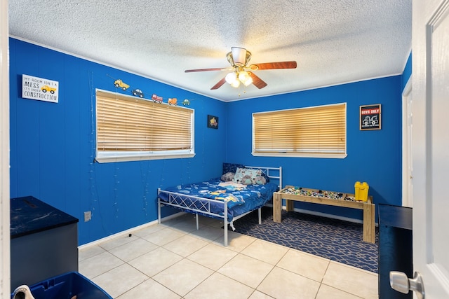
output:
[[[379,204],[379,298],[413,298],[390,287],[389,272],[413,277],[412,208]]]

